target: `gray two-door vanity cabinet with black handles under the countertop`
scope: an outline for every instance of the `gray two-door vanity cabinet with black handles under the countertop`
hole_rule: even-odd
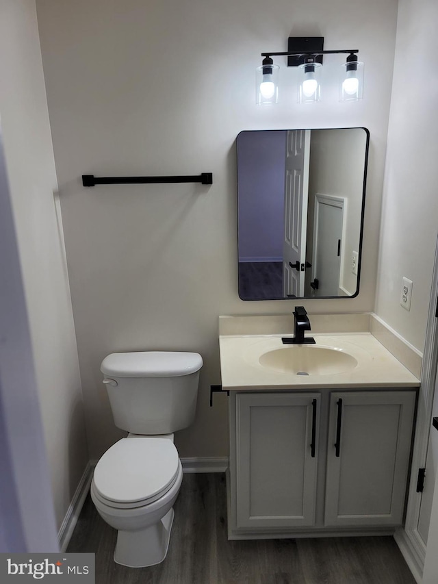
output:
[[[415,388],[230,392],[229,538],[402,524]]]

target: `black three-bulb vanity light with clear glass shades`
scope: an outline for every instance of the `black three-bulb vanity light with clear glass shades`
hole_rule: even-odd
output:
[[[342,65],[342,77],[339,86],[340,101],[356,101],[363,97],[363,63],[357,60],[358,49],[339,49],[324,51],[323,36],[289,37],[287,51],[281,53],[261,53],[263,61],[256,70],[256,103],[266,105],[279,101],[279,66],[272,57],[287,56],[287,66],[300,69],[298,83],[298,103],[315,103],[320,101],[322,56],[328,54],[348,53],[346,63]]]

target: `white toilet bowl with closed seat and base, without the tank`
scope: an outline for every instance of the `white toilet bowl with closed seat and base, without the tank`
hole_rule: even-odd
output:
[[[122,438],[101,457],[91,497],[118,530],[116,563],[142,568],[164,560],[182,480],[177,448],[166,437]]]

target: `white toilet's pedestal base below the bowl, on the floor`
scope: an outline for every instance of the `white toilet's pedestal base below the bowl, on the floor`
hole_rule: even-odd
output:
[[[167,555],[174,515],[172,508],[161,521],[146,529],[119,530],[114,561],[128,568],[146,568],[162,562]]]

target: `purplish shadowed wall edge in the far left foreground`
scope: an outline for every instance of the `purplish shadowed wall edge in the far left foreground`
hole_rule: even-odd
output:
[[[49,465],[0,127],[0,553],[56,552]]]

